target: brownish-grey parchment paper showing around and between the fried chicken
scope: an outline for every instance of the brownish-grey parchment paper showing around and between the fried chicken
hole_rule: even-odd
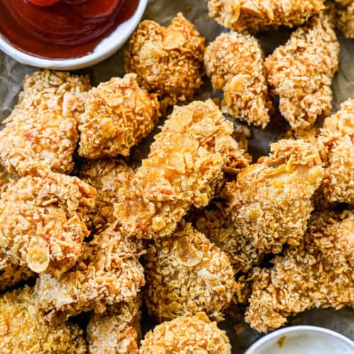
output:
[[[219,33],[227,31],[209,18],[207,15],[207,0],[149,0],[144,18],[152,19],[167,25],[171,18],[176,16],[178,11],[183,12],[188,20],[192,21],[200,31],[201,35],[207,38],[207,42],[214,40]],[[265,54],[268,55],[275,47],[283,44],[289,37],[290,30],[271,31],[263,33],[258,37],[261,39]],[[341,43],[341,64],[340,71],[333,81],[333,111],[337,110],[339,104],[347,98],[354,96],[354,40],[347,40],[341,33],[338,39]],[[89,74],[94,85],[101,81],[110,79],[111,76],[122,76],[124,74],[123,50],[105,60],[105,62],[85,69],[81,72]],[[4,119],[16,103],[18,91],[21,90],[21,81],[25,74],[33,72],[35,69],[19,64],[10,57],[0,52],[0,119]],[[210,81],[205,78],[197,98],[205,99],[216,97],[218,93],[212,92]],[[268,147],[279,135],[279,124],[271,123],[270,126],[261,130],[252,127],[252,138],[250,141],[250,152],[253,159],[258,156],[268,154]],[[144,155],[148,152],[152,135],[144,140],[140,148]],[[146,313],[146,312],[145,312]],[[240,326],[240,324],[243,324]],[[354,340],[354,310],[341,309],[314,309],[304,312],[294,319],[290,319],[291,324],[311,324],[333,329]],[[144,314],[143,331],[147,331],[154,326],[152,319]],[[254,341],[262,335],[253,331],[243,322],[242,309],[232,309],[227,315],[227,319],[219,324],[222,329],[227,330],[227,334],[232,342],[232,353],[244,353]],[[239,329],[244,330],[239,333]],[[236,329],[236,330],[235,330]],[[238,332],[238,334],[236,333]]]

